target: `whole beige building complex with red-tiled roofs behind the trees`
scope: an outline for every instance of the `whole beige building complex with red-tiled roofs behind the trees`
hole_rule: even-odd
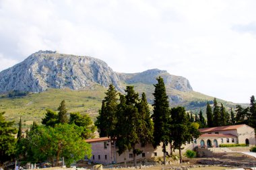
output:
[[[183,145],[183,153],[188,149],[193,150],[196,146],[199,148],[209,148],[218,147],[220,144],[248,144],[249,146],[255,146],[256,144],[254,128],[246,124],[201,128],[199,131],[201,132],[199,138]],[[108,137],[88,139],[86,142],[92,145],[92,157],[90,161],[94,163],[110,164],[133,161],[132,151],[125,151],[125,153],[119,155],[115,142],[111,141]],[[164,156],[162,153],[162,144],[157,148],[154,148],[152,144],[146,144],[146,146],[137,144],[136,148],[142,151],[140,155],[136,156],[136,159],[150,159],[152,157]],[[166,146],[166,151],[170,153],[170,144]]]

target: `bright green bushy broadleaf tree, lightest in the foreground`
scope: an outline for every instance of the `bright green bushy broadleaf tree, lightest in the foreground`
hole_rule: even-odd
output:
[[[58,166],[59,158],[64,157],[69,167],[73,161],[92,155],[90,144],[81,138],[82,132],[83,128],[75,124],[57,124],[54,128],[38,126],[24,139],[24,155],[29,156],[30,161],[49,160],[53,166]]]

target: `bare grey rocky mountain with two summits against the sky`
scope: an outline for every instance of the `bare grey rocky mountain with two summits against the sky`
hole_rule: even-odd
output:
[[[163,77],[167,87],[178,91],[193,91],[184,77],[152,69],[142,73],[115,73],[106,62],[89,56],[59,54],[50,50],[31,54],[18,65],[0,73],[0,93],[29,91],[38,93],[49,88],[88,89],[95,83],[108,87],[111,83],[123,92],[122,83],[156,84]]]

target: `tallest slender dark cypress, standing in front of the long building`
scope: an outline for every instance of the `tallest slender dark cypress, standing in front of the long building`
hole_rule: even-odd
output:
[[[160,142],[163,143],[163,153],[164,153],[164,164],[166,163],[166,144],[171,141],[170,138],[170,108],[168,102],[168,95],[166,95],[166,89],[164,85],[164,79],[158,77],[156,79],[158,83],[154,85],[155,91],[154,103],[153,103],[153,114],[152,119],[154,122],[154,142],[153,146],[160,145]]]

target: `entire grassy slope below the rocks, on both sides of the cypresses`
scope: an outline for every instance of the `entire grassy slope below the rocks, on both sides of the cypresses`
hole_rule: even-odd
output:
[[[152,95],[154,85],[143,83],[125,84],[133,85],[135,90],[141,95],[145,92],[149,103],[154,102]],[[0,112],[6,112],[7,120],[14,120],[18,123],[20,116],[24,124],[30,125],[32,121],[41,122],[46,113],[46,109],[57,110],[59,103],[63,99],[66,101],[68,112],[80,112],[81,114],[89,114],[95,120],[98,110],[101,107],[102,99],[105,96],[106,88],[100,85],[94,85],[90,89],[74,91],[71,89],[49,89],[41,93],[30,93],[24,97],[1,97]],[[171,107],[183,105],[186,110],[199,112],[205,110],[205,102],[212,101],[214,97],[203,95],[195,91],[183,92],[166,87],[167,94],[181,97],[178,103],[170,103]],[[224,103],[227,108],[234,108],[235,103],[218,100]],[[150,107],[152,110],[152,107]]]

